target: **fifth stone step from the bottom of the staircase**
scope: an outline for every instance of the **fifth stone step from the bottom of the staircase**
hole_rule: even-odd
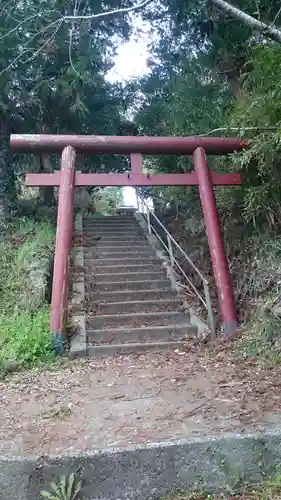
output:
[[[163,300],[173,299],[176,297],[176,292],[168,289],[156,290],[138,290],[136,286],[134,290],[109,290],[106,292],[89,292],[86,298],[90,302],[98,302],[100,304],[107,304],[110,302],[130,302],[141,300]]]

